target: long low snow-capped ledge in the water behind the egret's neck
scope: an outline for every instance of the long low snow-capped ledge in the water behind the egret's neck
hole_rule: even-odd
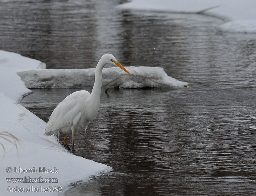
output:
[[[161,67],[104,68],[103,85],[123,88],[184,87],[187,82],[168,76]],[[27,88],[80,88],[93,86],[95,68],[76,70],[30,70],[17,73]]]

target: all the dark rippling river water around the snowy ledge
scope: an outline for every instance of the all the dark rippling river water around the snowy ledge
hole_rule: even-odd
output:
[[[222,32],[223,21],[205,15],[124,11],[117,3],[0,8],[1,49],[49,69],[95,67],[112,53],[124,66],[160,66],[190,83],[109,96],[103,87],[97,118],[75,134],[75,154],[114,169],[65,195],[255,195],[256,36]],[[76,90],[33,89],[21,104],[47,122]]]

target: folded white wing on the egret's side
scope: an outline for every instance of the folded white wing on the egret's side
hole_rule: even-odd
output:
[[[55,133],[56,130],[77,124],[82,117],[85,101],[89,96],[88,91],[80,90],[70,94],[60,102],[50,116],[45,135],[57,134]]]

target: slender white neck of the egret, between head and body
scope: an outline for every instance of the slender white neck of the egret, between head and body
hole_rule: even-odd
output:
[[[94,85],[91,91],[91,98],[96,103],[100,102],[100,93],[101,93],[101,85],[102,85],[102,69],[105,64],[100,60],[95,69],[95,80]]]

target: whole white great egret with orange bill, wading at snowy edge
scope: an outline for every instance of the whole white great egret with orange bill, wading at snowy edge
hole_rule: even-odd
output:
[[[106,64],[113,64],[130,74],[111,54],[105,54],[99,60],[95,69],[95,81],[91,94],[86,90],[73,92],[53,110],[46,125],[45,135],[67,134],[63,139],[64,145],[70,150],[66,139],[72,132],[72,152],[74,153],[74,133],[87,129],[91,120],[96,117],[100,106],[102,85],[102,69]]]

